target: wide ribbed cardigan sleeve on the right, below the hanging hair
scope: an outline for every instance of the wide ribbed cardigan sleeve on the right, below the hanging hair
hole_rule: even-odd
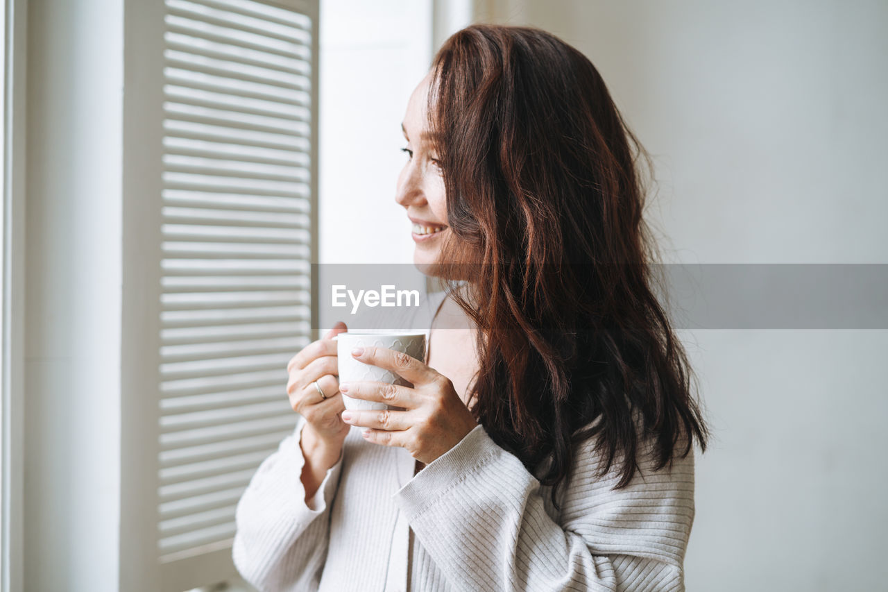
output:
[[[479,425],[393,498],[458,590],[684,590],[694,454],[661,471],[638,465],[614,491],[617,470],[596,478],[589,441],[556,512],[549,489]]]

